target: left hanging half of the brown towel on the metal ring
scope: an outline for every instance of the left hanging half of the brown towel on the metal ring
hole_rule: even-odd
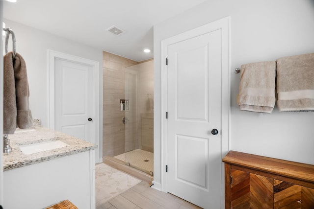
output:
[[[12,52],[3,58],[3,134],[14,134],[16,129],[16,94]]]

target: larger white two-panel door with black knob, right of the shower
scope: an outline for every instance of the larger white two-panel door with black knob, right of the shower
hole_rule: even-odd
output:
[[[167,47],[167,191],[221,206],[221,29]]]

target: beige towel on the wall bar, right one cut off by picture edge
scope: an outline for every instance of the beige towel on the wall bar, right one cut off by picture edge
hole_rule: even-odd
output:
[[[314,53],[276,62],[279,111],[314,111]]]

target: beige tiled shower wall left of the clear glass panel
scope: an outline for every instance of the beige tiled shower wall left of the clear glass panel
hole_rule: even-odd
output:
[[[125,125],[122,123],[125,112],[120,111],[120,99],[125,98],[125,68],[136,64],[130,59],[103,52],[103,156],[125,152]]]

